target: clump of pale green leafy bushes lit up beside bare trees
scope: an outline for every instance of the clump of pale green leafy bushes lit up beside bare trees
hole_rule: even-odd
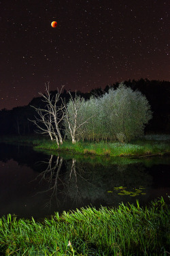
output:
[[[146,97],[123,84],[116,90],[109,89],[102,97],[81,100],[79,104],[77,136],[88,141],[131,141],[143,134],[152,117]],[[67,111],[73,115],[71,102]]]

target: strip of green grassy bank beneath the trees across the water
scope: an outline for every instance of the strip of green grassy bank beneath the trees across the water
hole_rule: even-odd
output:
[[[46,137],[3,137],[1,142],[27,143],[37,150],[51,150],[54,152],[69,152],[69,154],[92,154],[96,156],[154,156],[170,154],[170,136],[168,134],[146,135],[130,143],[117,141],[84,142],[64,141],[58,148],[56,141],[50,141]]]

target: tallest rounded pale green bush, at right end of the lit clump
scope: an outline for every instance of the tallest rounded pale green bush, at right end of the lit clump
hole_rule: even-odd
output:
[[[141,136],[152,117],[146,97],[123,84],[116,90],[109,89],[103,96],[103,111],[105,115],[109,113],[105,126],[110,133],[117,139],[122,134],[126,141]]]

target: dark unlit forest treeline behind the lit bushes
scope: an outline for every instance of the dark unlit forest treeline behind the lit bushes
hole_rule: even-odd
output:
[[[145,95],[152,111],[152,119],[146,126],[147,132],[169,132],[170,128],[170,115],[169,115],[169,89],[170,82],[168,81],[149,81],[148,79],[140,79],[139,81],[124,81],[126,87],[130,87],[135,90],[141,91],[141,94]],[[113,85],[107,85],[105,89],[97,88],[93,89],[89,93],[82,94],[81,91],[77,92],[77,96],[89,100],[91,97],[94,99],[98,96],[103,96],[109,91],[110,88],[117,89],[119,83]],[[57,91],[50,91],[51,97],[56,95]],[[75,98],[75,92],[71,92],[73,99]],[[65,102],[69,102],[70,95],[67,91],[61,93],[61,98],[65,99]],[[27,106],[16,107],[10,111],[3,109],[0,111],[0,135],[7,134],[32,134],[35,131],[35,125],[30,122],[29,119],[35,119],[37,113],[35,108],[44,109],[45,103],[42,101],[42,97],[33,98]],[[62,101],[58,100],[58,106],[61,106]],[[109,113],[108,113],[109,115]],[[62,126],[62,124],[60,124]],[[62,127],[60,127],[62,128]],[[61,130],[61,134],[65,137],[65,131]]]

